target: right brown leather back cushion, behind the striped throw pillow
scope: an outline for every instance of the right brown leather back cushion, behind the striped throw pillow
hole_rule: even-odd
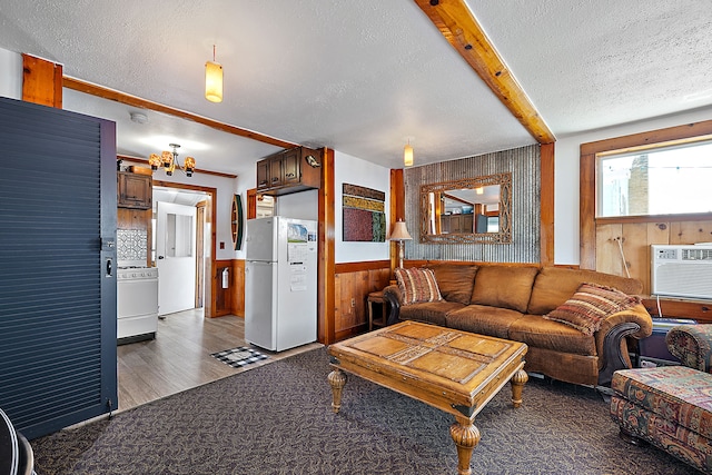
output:
[[[548,314],[574,295],[583,283],[614,287],[627,295],[643,291],[643,285],[637,279],[596,273],[595,270],[543,267],[534,280],[527,314]]]

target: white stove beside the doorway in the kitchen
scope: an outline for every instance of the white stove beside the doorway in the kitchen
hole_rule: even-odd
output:
[[[158,268],[119,267],[116,280],[118,344],[156,338]]]

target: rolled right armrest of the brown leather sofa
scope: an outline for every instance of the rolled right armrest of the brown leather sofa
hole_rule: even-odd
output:
[[[642,304],[611,314],[595,333],[599,354],[599,385],[610,386],[613,373],[633,365],[626,337],[646,338],[653,334],[653,319]]]

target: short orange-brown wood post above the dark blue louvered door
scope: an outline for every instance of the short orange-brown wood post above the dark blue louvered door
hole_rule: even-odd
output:
[[[62,65],[22,53],[22,100],[62,108]]]

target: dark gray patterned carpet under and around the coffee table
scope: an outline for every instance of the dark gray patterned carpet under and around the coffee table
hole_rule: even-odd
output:
[[[330,409],[326,349],[315,349],[31,441],[38,475],[455,474],[453,418],[358,377]],[[475,420],[474,474],[690,474],[617,436],[593,389],[531,378]]]

